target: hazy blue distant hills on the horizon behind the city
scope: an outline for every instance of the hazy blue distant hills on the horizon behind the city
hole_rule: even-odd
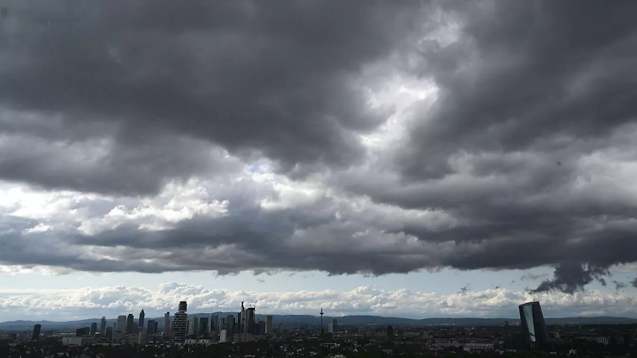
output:
[[[236,317],[236,312],[215,312],[220,317],[226,317],[227,315],[233,315]],[[210,313],[194,313],[197,317],[210,317]],[[190,316],[190,315],[189,315]],[[318,326],[320,325],[320,317],[311,315],[272,315],[273,324],[276,326],[279,323],[283,323],[285,327],[303,327],[303,326]],[[332,322],[332,319],[336,318],[338,324],[345,326],[434,326],[434,325],[456,325],[456,326],[502,326],[505,322],[510,324],[519,324],[519,319],[477,319],[477,318],[431,318],[431,319],[405,319],[401,317],[380,317],[380,316],[343,316],[343,317],[323,317],[323,324],[327,325]],[[152,318],[148,318],[152,319]],[[147,320],[148,320],[147,319]],[[172,316],[171,316],[172,319]],[[257,320],[265,320],[266,315],[257,315]],[[24,329],[30,330],[34,324],[41,324],[42,330],[48,329],[54,331],[70,331],[80,327],[90,326],[92,322],[96,322],[99,327],[100,319],[86,319],[86,320],[73,320],[67,322],[52,322],[48,320],[14,320],[7,322],[0,322],[0,330],[4,331],[22,331]],[[137,320],[137,317],[135,317]],[[161,331],[164,326],[164,317],[154,318],[158,323],[158,328]],[[629,319],[626,317],[565,317],[565,318],[546,318],[547,324],[637,324],[637,319]],[[106,320],[108,327],[113,327],[116,319]]]

